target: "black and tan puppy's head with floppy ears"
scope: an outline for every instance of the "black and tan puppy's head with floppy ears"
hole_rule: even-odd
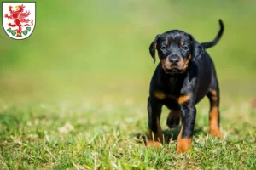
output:
[[[166,73],[183,73],[189,62],[200,57],[204,48],[194,37],[183,31],[167,31],[155,37],[149,47],[149,52],[155,63],[155,49],[163,70]]]

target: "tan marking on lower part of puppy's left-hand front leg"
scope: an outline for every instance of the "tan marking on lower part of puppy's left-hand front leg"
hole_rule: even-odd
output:
[[[163,131],[160,127],[160,119],[157,117],[156,120],[157,123],[157,132],[154,133],[151,129],[149,129],[149,140],[147,147],[154,146],[154,147],[160,147],[163,144],[164,141],[164,136],[163,136]]]

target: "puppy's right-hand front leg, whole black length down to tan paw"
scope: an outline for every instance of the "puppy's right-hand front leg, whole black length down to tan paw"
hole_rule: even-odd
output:
[[[182,115],[182,128],[177,137],[177,153],[183,153],[191,148],[195,127],[196,108],[190,97],[178,100]],[[181,97],[179,98],[181,99]]]

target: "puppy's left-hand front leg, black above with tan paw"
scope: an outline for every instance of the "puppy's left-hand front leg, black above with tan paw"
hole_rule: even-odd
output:
[[[162,104],[158,99],[148,98],[148,130],[149,141],[147,147],[160,147],[164,141],[163,132],[160,127],[160,114]]]

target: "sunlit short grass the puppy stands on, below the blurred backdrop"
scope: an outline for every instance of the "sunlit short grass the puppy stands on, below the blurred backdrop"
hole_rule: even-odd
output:
[[[0,110],[1,169],[254,169],[255,112],[250,105],[221,111],[223,139],[207,135],[207,105],[198,110],[193,150],[176,154],[177,129],[163,148],[147,149],[145,102],[122,105],[8,105]]]

